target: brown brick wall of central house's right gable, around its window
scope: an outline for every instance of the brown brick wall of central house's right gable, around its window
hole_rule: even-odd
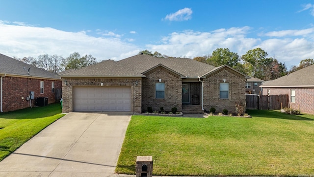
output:
[[[229,99],[220,99],[219,85],[226,79],[229,83]],[[204,109],[209,111],[211,107],[216,112],[222,112],[227,109],[229,113],[236,113],[235,103],[245,106],[245,78],[225,68],[218,72],[212,73],[204,81]]]

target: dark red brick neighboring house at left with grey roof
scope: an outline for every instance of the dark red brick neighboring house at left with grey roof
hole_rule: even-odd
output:
[[[58,102],[57,90],[61,96],[62,81],[57,74],[0,54],[0,112],[35,106],[37,97]],[[34,100],[28,97],[30,91]]]

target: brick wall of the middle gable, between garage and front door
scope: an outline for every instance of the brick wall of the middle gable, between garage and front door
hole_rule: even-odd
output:
[[[171,111],[171,108],[177,107],[182,111],[182,79],[179,75],[163,68],[157,67],[145,74],[142,87],[142,110],[147,111],[147,107],[152,107],[153,111]],[[155,83],[165,83],[165,99],[156,98]]]

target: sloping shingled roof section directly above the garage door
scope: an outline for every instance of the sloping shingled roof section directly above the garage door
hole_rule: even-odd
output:
[[[131,70],[113,60],[89,65],[74,71],[61,73],[61,77],[145,77],[136,70]]]

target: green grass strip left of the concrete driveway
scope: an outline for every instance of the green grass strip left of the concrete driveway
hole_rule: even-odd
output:
[[[63,117],[60,104],[0,113],[0,161],[26,141]]]

